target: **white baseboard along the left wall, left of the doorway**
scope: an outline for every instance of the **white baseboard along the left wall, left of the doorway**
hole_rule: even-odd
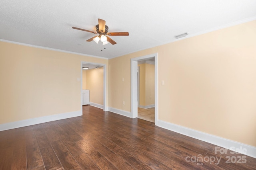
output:
[[[14,128],[19,128],[19,127],[25,127],[25,126],[30,126],[30,125],[36,125],[39,123],[45,123],[45,122],[55,121],[55,120],[60,120],[60,119],[67,119],[70,117],[82,116],[82,114],[83,114],[82,111],[79,110],[79,111],[72,111],[72,112],[68,112],[68,113],[61,113],[61,114],[56,114],[56,115],[37,117],[34,119],[26,119],[26,120],[21,120],[21,121],[4,123],[4,124],[0,124],[0,131],[5,131],[8,129],[14,129]]]

